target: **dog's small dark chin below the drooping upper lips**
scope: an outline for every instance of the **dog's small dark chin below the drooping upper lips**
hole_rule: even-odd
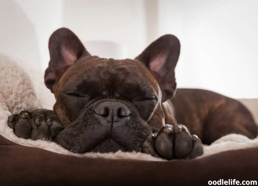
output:
[[[95,146],[91,152],[99,152],[99,153],[108,153],[108,152],[117,152],[117,151],[126,151],[122,145],[114,141],[112,138],[109,138],[97,146]]]

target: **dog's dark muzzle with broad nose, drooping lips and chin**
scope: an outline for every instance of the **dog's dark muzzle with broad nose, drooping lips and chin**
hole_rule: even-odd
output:
[[[138,110],[118,99],[94,102],[58,136],[58,143],[76,153],[141,151],[152,133]]]

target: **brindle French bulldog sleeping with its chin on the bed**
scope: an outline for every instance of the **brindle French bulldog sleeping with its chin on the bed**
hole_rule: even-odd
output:
[[[201,140],[257,135],[236,100],[198,89],[175,95],[180,41],[174,35],[158,38],[135,59],[115,60],[92,56],[71,30],[60,28],[49,51],[44,78],[56,103],[53,111],[11,115],[8,125],[18,137],[55,141],[75,153],[136,151],[171,160],[201,156]]]

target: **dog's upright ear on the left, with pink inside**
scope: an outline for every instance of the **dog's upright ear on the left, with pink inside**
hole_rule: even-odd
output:
[[[54,92],[65,71],[82,56],[89,56],[79,38],[68,28],[59,28],[49,38],[50,61],[44,75],[45,85]]]

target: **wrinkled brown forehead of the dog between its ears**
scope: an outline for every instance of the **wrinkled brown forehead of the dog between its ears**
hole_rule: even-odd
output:
[[[78,74],[80,75],[78,76]],[[151,83],[151,85],[156,83],[148,68],[137,59],[115,60],[98,56],[81,57],[74,65],[67,69],[60,81],[63,84],[74,81],[75,78],[83,79],[83,77],[88,77],[88,79],[140,81],[143,84]]]

